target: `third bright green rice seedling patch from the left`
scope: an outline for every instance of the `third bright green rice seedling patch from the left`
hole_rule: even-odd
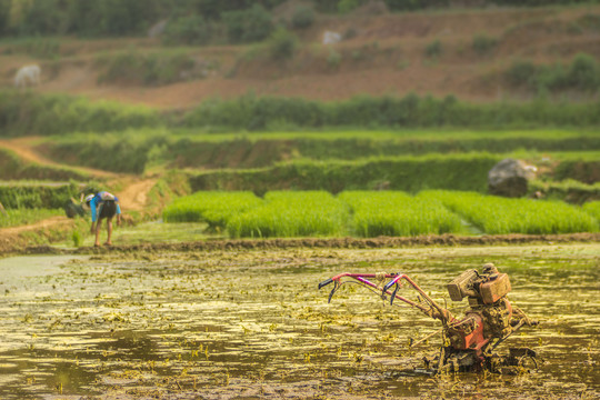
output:
[[[364,238],[460,232],[460,218],[436,199],[400,191],[346,191],[339,194],[352,212],[351,229]]]

